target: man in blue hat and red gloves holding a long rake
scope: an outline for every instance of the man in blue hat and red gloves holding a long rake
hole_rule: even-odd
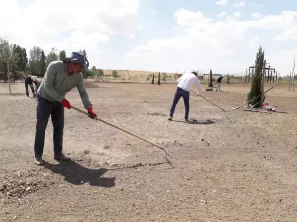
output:
[[[84,85],[81,71],[88,69],[89,62],[84,55],[72,52],[70,57],[62,61],[53,61],[49,64],[44,79],[37,90],[37,124],[34,142],[34,163],[42,165],[45,131],[52,116],[54,128],[54,159],[70,160],[62,153],[64,107],[70,109],[71,105],[65,94],[77,87],[84,107],[88,110],[89,117],[95,119],[92,103]]]

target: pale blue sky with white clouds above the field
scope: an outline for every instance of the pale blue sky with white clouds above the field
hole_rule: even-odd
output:
[[[84,3],[83,3],[84,2]],[[0,37],[46,53],[85,49],[90,67],[245,72],[259,46],[282,75],[297,56],[293,0],[0,0]]]

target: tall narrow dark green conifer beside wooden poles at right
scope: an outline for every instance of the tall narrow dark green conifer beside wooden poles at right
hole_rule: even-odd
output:
[[[264,51],[262,47],[259,47],[259,50],[256,55],[255,62],[255,73],[252,79],[250,92],[247,94],[247,100],[251,100],[250,104],[255,105],[256,108],[261,108],[261,86],[262,86],[262,70],[264,65]],[[262,101],[263,102],[263,101]]]

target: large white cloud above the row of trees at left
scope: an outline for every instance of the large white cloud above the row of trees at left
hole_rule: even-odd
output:
[[[0,0],[0,5],[5,5],[0,13],[0,21],[5,21],[1,22],[0,36],[26,47],[28,54],[34,45],[46,54],[51,47],[65,49],[67,54],[86,49],[92,63],[112,35],[133,37],[142,28],[139,0],[88,0],[87,4],[80,0],[52,0],[50,4],[32,0],[27,7],[21,7],[17,0]]]

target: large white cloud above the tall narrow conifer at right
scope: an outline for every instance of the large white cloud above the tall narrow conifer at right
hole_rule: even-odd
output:
[[[239,14],[235,13],[237,16]],[[223,21],[214,21],[200,11],[179,9],[174,14],[174,18],[179,26],[178,36],[151,39],[147,43],[136,46],[131,52],[139,53],[141,60],[148,59],[145,55],[148,52],[158,55],[154,60],[156,66],[160,63],[158,60],[162,58],[162,65],[171,67],[175,64],[179,69],[192,69],[199,64],[201,69],[208,70],[215,64],[222,72],[231,70],[241,72],[254,62],[258,47],[265,46],[267,42],[266,40],[263,42],[266,36],[261,38],[259,34],[253,34],[249,38],[249,34],[256,32],[255,30],[275,30],[280,35],[283,34],[283,40],[288,39],[289,36],[291,39],[292,36],[296,36],[297,40],[297,12],[295,11],[283,11],[278,15],[267,15],[255,20],[237,21],[227,16]],[[296,32],[296,35],[289,35],[290,32],[291,34]],[[280,61],[283,60],[282,57],[274,55],[271,49],[265,56],[268,60],[271,59],[271,62],[273,56]],[[275,62],[276,59],[273,61]],[[272,62],[273,66],[286,70],[285,63],[280,61]]]

